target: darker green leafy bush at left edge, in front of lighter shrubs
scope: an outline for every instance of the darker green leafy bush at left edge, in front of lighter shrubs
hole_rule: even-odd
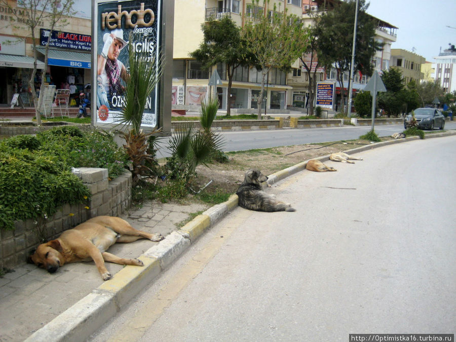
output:
[[[0,227],[53,215],[62,204],[83,203],[90,192],[55,156],[42,151],[0,152]]]

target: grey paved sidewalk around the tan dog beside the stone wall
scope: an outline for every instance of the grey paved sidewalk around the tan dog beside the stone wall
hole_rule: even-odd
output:
[[[141,209],[131,210],[121,217],[136,229],[166,237],[177,231],[176,224],[188,219],[190,213],[206,209],[206,204],[149,201]],[[116,244],[109,252],[134,258],[154,245],[158,243],[138,240]],[[115,274],[124,267],[106,263],[106,268]],[[54,274],[32,264],[7,273],[0,278],[0,341],[23,341],[103,283],[93,262],[69,263]]]

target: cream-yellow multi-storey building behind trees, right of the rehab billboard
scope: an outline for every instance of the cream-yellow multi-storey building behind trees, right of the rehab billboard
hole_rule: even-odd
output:
[[[261,4],[261,2],[260,2]],[[301,16],[301,1],[274,0],[269,3],[267,11],[277,6],[279,11],[287,8],[288,14]],[[202,69],[201,63],[189,57],[189,53],[199,48],[203,41],[201,25],[213,18],[230,16],[239,26],[253,10],[251,0],[175,0],[174,4],[174,50],[173,50],[173,97],[174,109],[198,110],[201,98],[207,96],[212,72]],[[264,10],[264,9],[263,9]],[[224,65],[214,66],[222,84],[216,87],[220,109],[226,109],[227,77]],[[291,89],[287,85],[287,74],[274,68],[268,78],[267,102],[268,109],[286,109],[286,92]],[[255,68],[238,67],[233,79],[232,108],[235,112],[248,112],[256,108],[256,97],[260,93],[259,73]],[[271,112],[271,111],[270,111]]]

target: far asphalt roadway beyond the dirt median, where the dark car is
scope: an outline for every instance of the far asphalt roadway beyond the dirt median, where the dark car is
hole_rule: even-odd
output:
[[[402,125],[377,125],[374,127],[378,136],[390,136],[402,132]],[[456,129],[456,121],[446,122],[445,129]],[[282,129],[244,132],[222,132],[225,140],[223,151],[239,151],[254,148],[291,146],[326,141],[358,139],[370,131],[370,126],[344,126],[311,129]],[[438,130],[436,130],[438,131]],[[169,157],[168,138],[164,138],[159,149],[158,157]]]

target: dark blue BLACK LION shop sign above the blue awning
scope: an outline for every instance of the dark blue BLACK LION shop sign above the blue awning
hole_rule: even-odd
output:
[[[50,30],[40,29],[40,45],[46,46],[48,44]],[[50,47],[90,51],[92,48],[92,36],[87,34],[70,33],[63,31],[52,31]]]

